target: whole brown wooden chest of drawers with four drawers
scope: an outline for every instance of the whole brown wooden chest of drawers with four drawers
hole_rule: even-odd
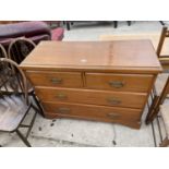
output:
[[[141,126],[160,63],[148,40],[43,41],[21,63],[46,118]]]

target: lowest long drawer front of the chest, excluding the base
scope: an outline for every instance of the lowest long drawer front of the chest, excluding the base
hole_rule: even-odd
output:
[[[141,109],[90,106],[81,104],[43,102],[46,113],[75,116],[84,118],[100,118],[109,120],[140,121]]]

